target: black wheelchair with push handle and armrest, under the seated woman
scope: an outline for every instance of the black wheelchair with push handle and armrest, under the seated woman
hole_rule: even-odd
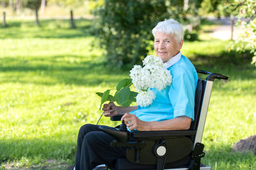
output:
[[[210,98],[211,98],[211,91],[212,91],[212,84],[214,79],[224,79],[224,80],[228,80],[228,77],[225,75],[221,75],[218,73],[211,73],[211,72],[206,72],[204,70],[198,70],[196,69],[196,72],[198,73],[202,73],[202,74],[206,74],[208,75],[205,80],[202,80],[202,98],[200,98],[200,103],[199,103],[199,115],[198,115],[198,119],[197,121],[195,120],[195,130],[168,130],[168,131],[153,131],[153,132],[130,132],[129,135],[131,135],[131,137],[137,138],[138,139],[143,139],[143,137],[172,137],[172,136],[186,136],[186,135],[191,135],[193,136],[193,149],[192,149],[192,153],[191,153],[191,164],[189,165],[189,167],[174,167],[171,169],[175,169],[175,170],[185,170],[185,169],[204,169],[204,170],[211,170],[211,166],[204,166],[204,164],[202,164],[200,162],[200,159],[202,157],[204,157],[204,144],[201,143],[202,141],[202,135],[204,133],[204,127],[205,127],[205,120],[207,117],[207,111],[208,111],[208,107],[209,107],[209,102],[210,102]],[[112,121],[116,121],[116,120],[120,120],[122,116],[114,116],[111,117]],[[191,123],[192,124],[192,123]],[[122,124],[124,126],[124,122]],[[120,128],[109,128],[109,127],[105,127],[105,126],[100,126],[99,127],[100,130],[113,135],[115,137],[115,141],[113,141],[113,143],[111,143],[112,146],[138,146],[138,147],[144,147],[142,146],[143,144],[141,143],[125,143],[125,141],[128,141],[129,139],[129,135],[127,132],[125,131],[125,127],[120,127]],[[161,134],[159,134],[161,133]],[[165,142],[165,141],[164,141]],[[155,144],[156,145],[156,144]],[[167,146],[166,146],[167,148]],[[158,150],[158,148],[157,148]],[[167,150],[167,149],[166,149]],[[139,153],[136,153],[136,162],[137,162],[137,158],[139,159]],[[155,153],[156,154],[156,153]],[[164,158],[162,157],[157,157],[157,169],[164,169],[166,160],[167,160],[167,153],[164,153],[165,156],[165,160],[163,160]],[[131,154],[130,154],[131,155]],[[157,156],[157,154],[156,154]],[[127,158],[128,159],[128,158]],[[118,162],[118,161],[117,161]],[[117,163],[118,164],[118,163]],[[160,165],[159,165],[160,164]],[[166,169],[167,170],[167,169]],[[169,169],[170,170],[170,169]]]

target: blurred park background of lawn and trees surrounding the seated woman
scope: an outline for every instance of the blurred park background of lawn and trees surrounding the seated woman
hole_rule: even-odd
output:
[[[102,113],[95,92],[154,54],[152,28],[170,18],[196,68],[230,77],[213,85],[202,162],[255,169],[253,153],[232,150],[256,129],[255,10],[255,0],[0,0],[0,169],[74,164],[79,128]]]

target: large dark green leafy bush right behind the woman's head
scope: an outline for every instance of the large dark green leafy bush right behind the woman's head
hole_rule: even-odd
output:
[[[195,16],[201,0],[115,1],[105,0],[95,10],[97,19],[93,27],[100,45],[106,50],[109,65],[122,66],[138,63],[152,50],[152,28],[164,19],[176,19],[186,24],[188,16]]]

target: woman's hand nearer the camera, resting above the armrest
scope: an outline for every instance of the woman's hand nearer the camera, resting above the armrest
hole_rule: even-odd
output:
[[[134,114],[125,113],[121,120],[130,130],[147,131],[147,121],[141,121]]]

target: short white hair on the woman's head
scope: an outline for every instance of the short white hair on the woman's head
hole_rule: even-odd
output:
[[[177,43],[183,40],[184,32],[179,22],[173,19],[164,20],[158,22],[157,26],[152,29],[152,33],[155,36],[156,33],[164,33],[166,35],[171,34],[174,36]]]

